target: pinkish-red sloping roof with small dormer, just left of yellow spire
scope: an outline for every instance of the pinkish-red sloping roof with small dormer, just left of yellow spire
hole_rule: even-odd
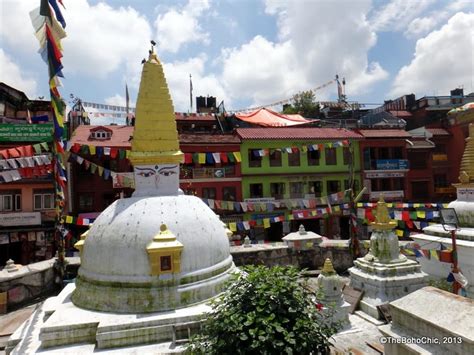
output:
[[[91,131],[102,127],[112,131],[110,139],[97,140],[90,139]],[[133,126],[88,126],[83,125],[76,128],[72,133],[71,143],[88,144],[96,147],[114,147],[114,148],[130,148],[130,136],[133,135]]]

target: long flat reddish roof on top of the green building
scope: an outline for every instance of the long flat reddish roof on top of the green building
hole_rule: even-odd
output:
[[[362,139],[356,132],[345,128],[238,128],[242,139]]]

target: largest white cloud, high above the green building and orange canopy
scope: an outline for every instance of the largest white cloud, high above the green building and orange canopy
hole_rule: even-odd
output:
[[[344,6],[342,6],[342,4]],[[367,21],[369,1],[281,2],[267,0],[265,11],[277,17],[278,40],[255,36],[238,48],[222,51],[222,82],[231,98],[267,104],[314,88],[338,73],[350,95],[370,90],[388,73],[369,62],[377,37]],[[326,99],[335,85],[316,93]]]

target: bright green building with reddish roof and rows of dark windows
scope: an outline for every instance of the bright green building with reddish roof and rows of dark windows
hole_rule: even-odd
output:
[[[337,207],[336,211],[331,209],[324,197],[349,189],[351,175],[354,190],[359,190],[362,136],[347,129],[313,127],[240,128],[237,134],[241,138],[244,201],[273,205],[247,211],[244,219],[284,217],[270,227],[259,223],[253,228],[253,237],[280,240],[300,224],[327,237],[349,237],[349,217]],[[318,205],[308,208],[310,199],[316,199]],[[278,201],[283,201],[281,208]],[[331,213],[308,213],[315,208],[330,208]]]

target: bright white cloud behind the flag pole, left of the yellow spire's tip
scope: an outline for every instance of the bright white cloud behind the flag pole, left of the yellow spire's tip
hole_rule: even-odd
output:
[[[2,13],[0,26],[2,41],[13,51],[32,56],[35,61],[41,59],[29,12],[38,6],[36,0],[6,0],[2,7],[8,8],[8,12]],[[125,68],[124,75],[135,79],[152,38],[146,18],[132,7],[113,8],[104,2],[90,5],[87,0],[74,0],[66,6],[63,15],[67,37],[62,41],[65,75],[104,79]],[[130,81],[137,85],[138,80]]]

